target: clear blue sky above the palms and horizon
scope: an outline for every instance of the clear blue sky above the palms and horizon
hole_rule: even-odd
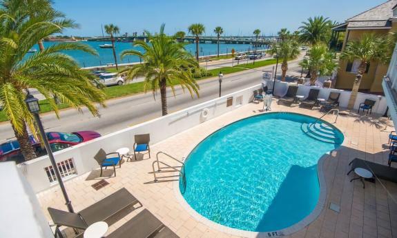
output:
[[[68,35],[99,36],[101,24],[115,23],[121,32],[155,32],[166,23],[166,32],[186,31],[203,23],[206,34],[222,26],[227,35],[251,35],[259,28],[265,35],[280,28],[296,30],[308,17],[323,15],[343,22],[386,0],[55,0],[55,8],[80,24]]]

